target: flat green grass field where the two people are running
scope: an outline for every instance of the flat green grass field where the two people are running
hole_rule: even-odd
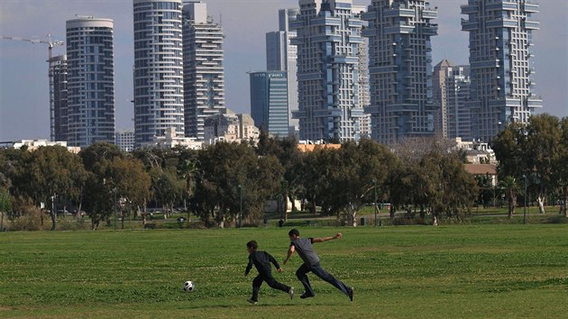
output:
[[[326,228],[322,265],[353,303],[310,275],[316,297],[268,286],[249,305],[245,243],[282,260],[289,228],[0,232],[0,317],[560,318],[568,312],[568,224]],[[296,287],[295,255],[275,277]],[[191,279],[194,293],[181,285]]]

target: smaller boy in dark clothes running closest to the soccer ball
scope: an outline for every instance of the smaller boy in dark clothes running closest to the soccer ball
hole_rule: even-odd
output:
[[[254,264],[254,267],[256,267],[256,269],[259,271],[259,275],[252,280],[252,298],[248,299],[247,301],[253,305],[259,301],[259,290],[261,289],[262,281],[266,281],[266,283],[274,289],[279,289],[287,292],[290,296],[290,299],[294,297],[294,287],[280,284],[278,281],[276,281],[275,278],[272,277],[270,262],[274,264],[278,272],[282,271],[278,261],[276,261],[274,257],[272,257],[270,253],[266,251],[257,251],[258,248],[259,245],[255,241],[246,243],[246,250],[249,251],[249,264],[244,270],[244,276],[247,276],[249,274],[252,269],[252,264]]]

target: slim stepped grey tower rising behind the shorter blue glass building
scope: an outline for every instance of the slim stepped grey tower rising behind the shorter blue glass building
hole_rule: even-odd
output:
[[[298,111],[298,48],[291,44],[297,32],[290,29],[296,21],[298,9],[280,9],[279,31],[266,33],[266,69],[288,72],[288,104],[290,131],[298,133],[298,120],[292,119],[292,112]],[[291,132],[290,132],[291,133]]]

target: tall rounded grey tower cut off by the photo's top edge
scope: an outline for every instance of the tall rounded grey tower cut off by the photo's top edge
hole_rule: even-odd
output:
[[[133,11],[136,146],[183,138],[181,0],[133,0]]]

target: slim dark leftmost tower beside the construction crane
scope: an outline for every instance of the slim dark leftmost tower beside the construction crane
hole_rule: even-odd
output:
[[[51,141],[68,141],[67,55],[51,58],[50,77]]]

